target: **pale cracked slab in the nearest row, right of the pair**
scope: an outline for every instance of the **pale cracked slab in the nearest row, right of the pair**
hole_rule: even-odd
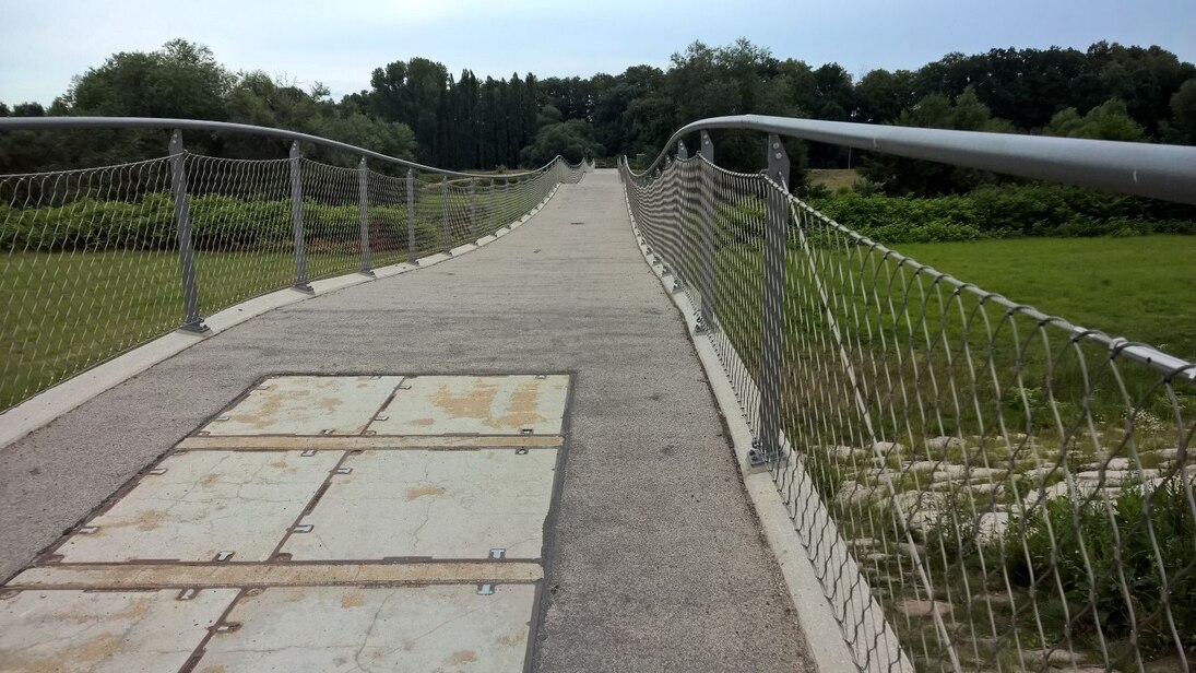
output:
[[[245,595],[196,673],[523,671],[535,586],[293,587]]]

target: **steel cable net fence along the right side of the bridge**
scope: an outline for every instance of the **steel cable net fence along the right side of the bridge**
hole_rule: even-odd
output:
[[[1196,666],[1196,366],[919,264],[763,175],[621,171],[861,671]]]

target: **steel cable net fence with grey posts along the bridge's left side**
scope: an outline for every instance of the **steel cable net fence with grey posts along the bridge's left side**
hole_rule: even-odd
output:
[[[475,243],[591,170],[557,159],[448,185],[297,148],[242,160],[175,141],[160,159],[0,175],[0,411],[254,296]]]

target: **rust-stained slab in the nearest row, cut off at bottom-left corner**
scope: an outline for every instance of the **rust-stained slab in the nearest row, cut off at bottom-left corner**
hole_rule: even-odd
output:
[[[0,600],[0,671],[179,671],[237,589],[28,591]]]

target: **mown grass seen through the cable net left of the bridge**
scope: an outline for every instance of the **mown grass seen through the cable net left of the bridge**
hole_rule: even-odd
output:
[[[352,273],[355,255],[312,253],[310,279]],[[200,252],[207,316],[294,282],[294,256]],[[176,252],[13,253],[0,268],[0,409],[36,394],[183,322]]]

